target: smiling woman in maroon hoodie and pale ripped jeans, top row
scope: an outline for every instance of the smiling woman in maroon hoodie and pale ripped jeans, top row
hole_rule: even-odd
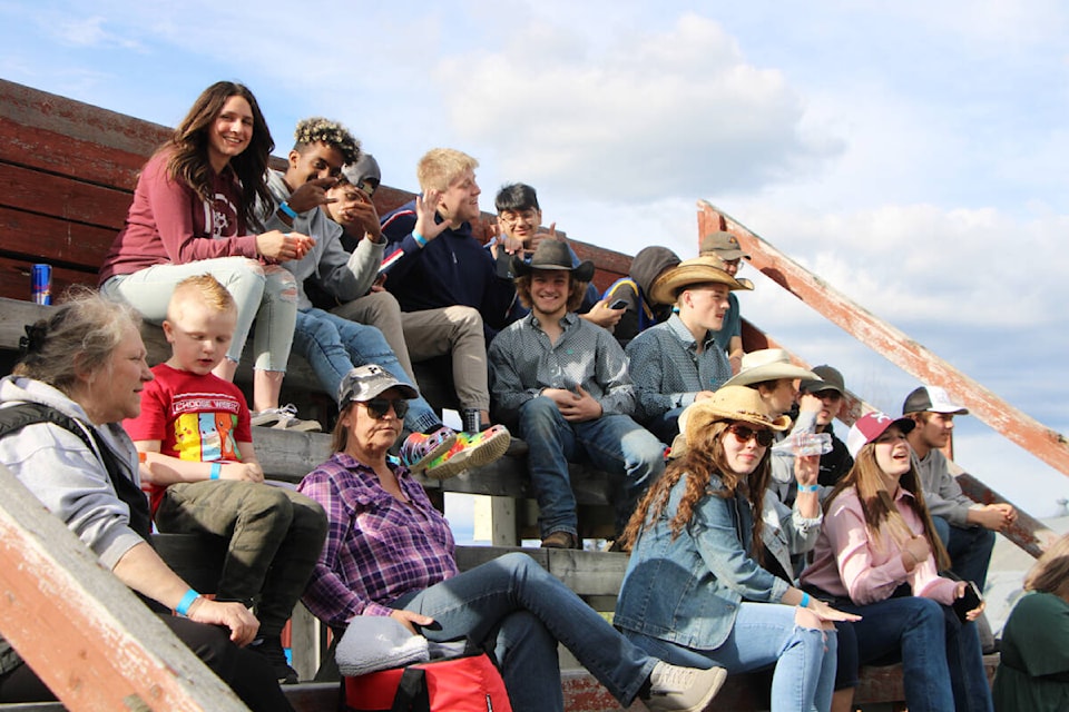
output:
[[[215,374],[234,379],[255,319],[253,424],[317,429],[278,407],[297,314],[296,283],[278,263],[303,257],[311,238],[256,234],[264,217],[256,206],[271,205],[264,175],[274,146],[247,87],[218,81],[205,89],[141,169],[126,226],[104,258],[100,290],[159,323],[176,284],[213,275],[238,307]]]

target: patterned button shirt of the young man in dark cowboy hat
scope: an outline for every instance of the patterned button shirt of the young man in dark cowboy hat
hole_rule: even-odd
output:
[[[542,388],[573,390],[576,386],[600,403],[605,414],[631,415],[635,386],[627,356],[612,335],[570,312],[560,325],[563,333],[550,344],[538,319],[529,314],[490,344],[491,390],[500,416],[516,421],[520,406]]]

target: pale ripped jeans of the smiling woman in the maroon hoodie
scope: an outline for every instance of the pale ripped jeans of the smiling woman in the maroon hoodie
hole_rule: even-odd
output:
[[[116,275],[100,285],[100,293],[121,299],[155,324],[167,317],[175,285],[195,275],[219,280],[237,304],[237,325],[226,357],[242,360],[248,333],[256,322],[253,349],[255,368],[286,370],[297,314],[297,283],[278,265],[261,265],[246,257],[218,257],[185,265],[153,265],[130,275]]]

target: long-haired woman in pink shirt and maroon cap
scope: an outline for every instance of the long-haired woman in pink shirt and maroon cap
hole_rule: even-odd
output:
[[[869,413],[846,447],[850,473],[824,504],[824,524],[803,589],[844,611],[854,623],[861,664],[902,661],[910,712],[991,708],[973,623],[982,604],[959,620],[951,607],[968,583],[939,575],[950,561],[924,505],[912,451],[914,426]]]

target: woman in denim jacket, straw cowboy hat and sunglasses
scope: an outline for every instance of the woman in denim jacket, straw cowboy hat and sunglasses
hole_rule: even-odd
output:
[[[728,673],[774,666],[772,710],[828,710],[836,611],[768,571],[762,543],[772,418],[757,392],[728,386],[688,409],[687,453],[625,532],[631,560],[615,624],[649,654]],[[815,473],[817,458],[798,457]],[[813,495],[815,496],[815,494]]]

